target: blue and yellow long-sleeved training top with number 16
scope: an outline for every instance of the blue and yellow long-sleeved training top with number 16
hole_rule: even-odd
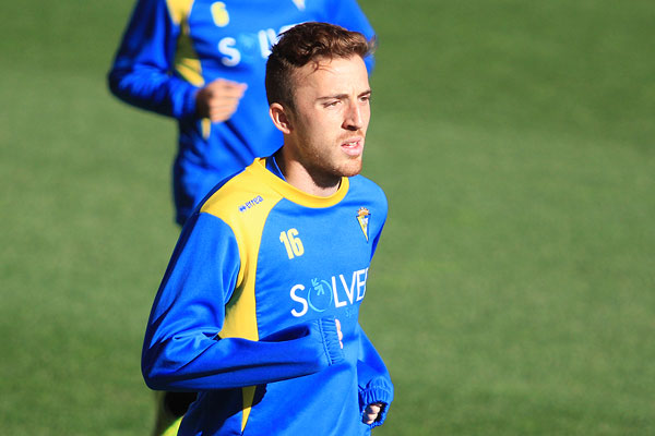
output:
[[[386,208],[361,175],[318,197],[286,183],[273,158],[205,198],[175,249],[142,356],[150,387],[200,392],[181,435],[366,435],[382,424],[393,385],[358,315]],[[364,424],[373,402],[385,407]]]

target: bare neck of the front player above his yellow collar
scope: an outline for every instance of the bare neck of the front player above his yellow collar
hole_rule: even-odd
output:
[[[312,172],[298,160],[290,158],[288,152],[285,153],[285,147],[275,154],[275,161],[287,183],[308,194],[329,197],[341,186],[341,175]]]

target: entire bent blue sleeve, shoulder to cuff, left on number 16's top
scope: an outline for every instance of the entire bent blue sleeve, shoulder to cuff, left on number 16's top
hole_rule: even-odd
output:
[[[254,386],[313,374],[343,361],[334,318],[259,341],[221,338],[239,265],[231,229],[212,215],[193,215],[151,312],[142,353],[147,386],[191,391]]]

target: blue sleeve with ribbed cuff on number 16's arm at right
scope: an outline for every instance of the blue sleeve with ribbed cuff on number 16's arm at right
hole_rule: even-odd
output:
[[[378,420],[371,427],[382,425],[386,419],[389,407],[393,401],[393,384],[391,376],[382,358],[366,336],[361,327],[357,326],[359,332],[359,356],[357,360],[357,384],[359,387],[359,409],[364,417],[364,411],[368,404],[381,402],[384,404]]]

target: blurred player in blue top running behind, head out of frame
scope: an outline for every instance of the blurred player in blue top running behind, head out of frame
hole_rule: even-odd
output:
[[[373,35],[356,0],[136,2],[109,88],[177,120],[172,185],[180,225],[216,183],[282,145],[267,117],[265,62],[278,33],[308,21]]]

